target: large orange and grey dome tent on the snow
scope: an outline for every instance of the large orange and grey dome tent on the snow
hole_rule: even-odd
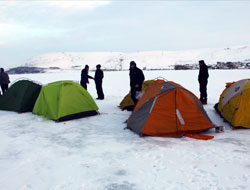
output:
[[[214,128],[200,100],[174,82],[149,86],[127,121],[139,135],[190,136]]]

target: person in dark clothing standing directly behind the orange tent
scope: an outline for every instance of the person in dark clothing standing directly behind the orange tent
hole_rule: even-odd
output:
[[[142,83],[145,77],[142,70],[136,66],[136,63],[134,61],[130,62],[129,77],[130,77],[131,98],[136,105],[138,101],[136,99],[136,91],[141,91]]]

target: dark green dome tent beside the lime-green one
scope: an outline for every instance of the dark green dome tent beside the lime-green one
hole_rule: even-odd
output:
[[[29,80],[15,82],[0,96],[0,110],[32,112],[41,85]]]

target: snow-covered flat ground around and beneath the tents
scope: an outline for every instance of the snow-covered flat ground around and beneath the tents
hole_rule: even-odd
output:
[[[90,73],[93,75],[93,73]],[[250,130],[232,130],[213,105],[225,82],[249,70],[209,71],[208,105],[224,133],[200,141],[144,137],[124,130],[130,112],[117,107],[129,91],[128,72],[105,72],[100,115],[55,123],[32,113],[0,111],[0,189],[3,190],[238,190],[250,189]],[[198,71],[147,71],[180,83],[199,96]],[[11,75],[43,84],[79,81],[79,72]],[[96,98],[93,81],[89,92]]]

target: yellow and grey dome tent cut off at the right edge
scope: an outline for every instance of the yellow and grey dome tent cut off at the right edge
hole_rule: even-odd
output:
[[[233,127],[250,128],[250,79],[227,83],[214,107]]]

